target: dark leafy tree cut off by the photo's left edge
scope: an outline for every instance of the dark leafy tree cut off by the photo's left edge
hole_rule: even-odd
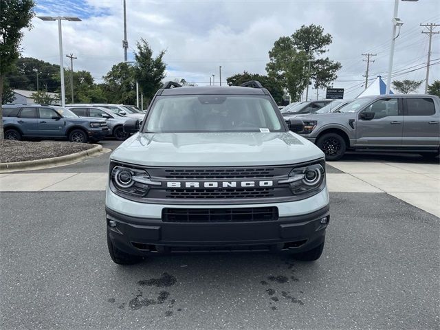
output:
[[[23,28],[30,29],[34,17],[33,0],[0,1],[0,140],[3,140],[3,80],[19,58]]]

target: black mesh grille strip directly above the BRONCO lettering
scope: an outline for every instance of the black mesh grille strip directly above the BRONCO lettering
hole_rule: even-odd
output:
[[[167,179],[246,179],[274,177],[275,168],[166,168]]]

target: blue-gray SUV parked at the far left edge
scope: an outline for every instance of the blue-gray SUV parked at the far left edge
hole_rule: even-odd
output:
[[[45,104],[5,104],[5,139],[67,139],[70,142],[98,142],[109,134],[105,120],[79,118],[67,108]]]

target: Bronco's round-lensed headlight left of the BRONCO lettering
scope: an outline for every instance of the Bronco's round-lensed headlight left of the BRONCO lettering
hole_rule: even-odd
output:
[[[146,170],[116,165],[111,170],[111,186],[116,193],[133,196],[145,196],[151,186],[160,185],[160,182],[151,181]]]

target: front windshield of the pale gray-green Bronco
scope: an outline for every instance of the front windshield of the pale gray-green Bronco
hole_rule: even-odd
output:
[[[146,131],[285,131],[277,111],[267,96],[162,96],[156,99],[148,114]]]

